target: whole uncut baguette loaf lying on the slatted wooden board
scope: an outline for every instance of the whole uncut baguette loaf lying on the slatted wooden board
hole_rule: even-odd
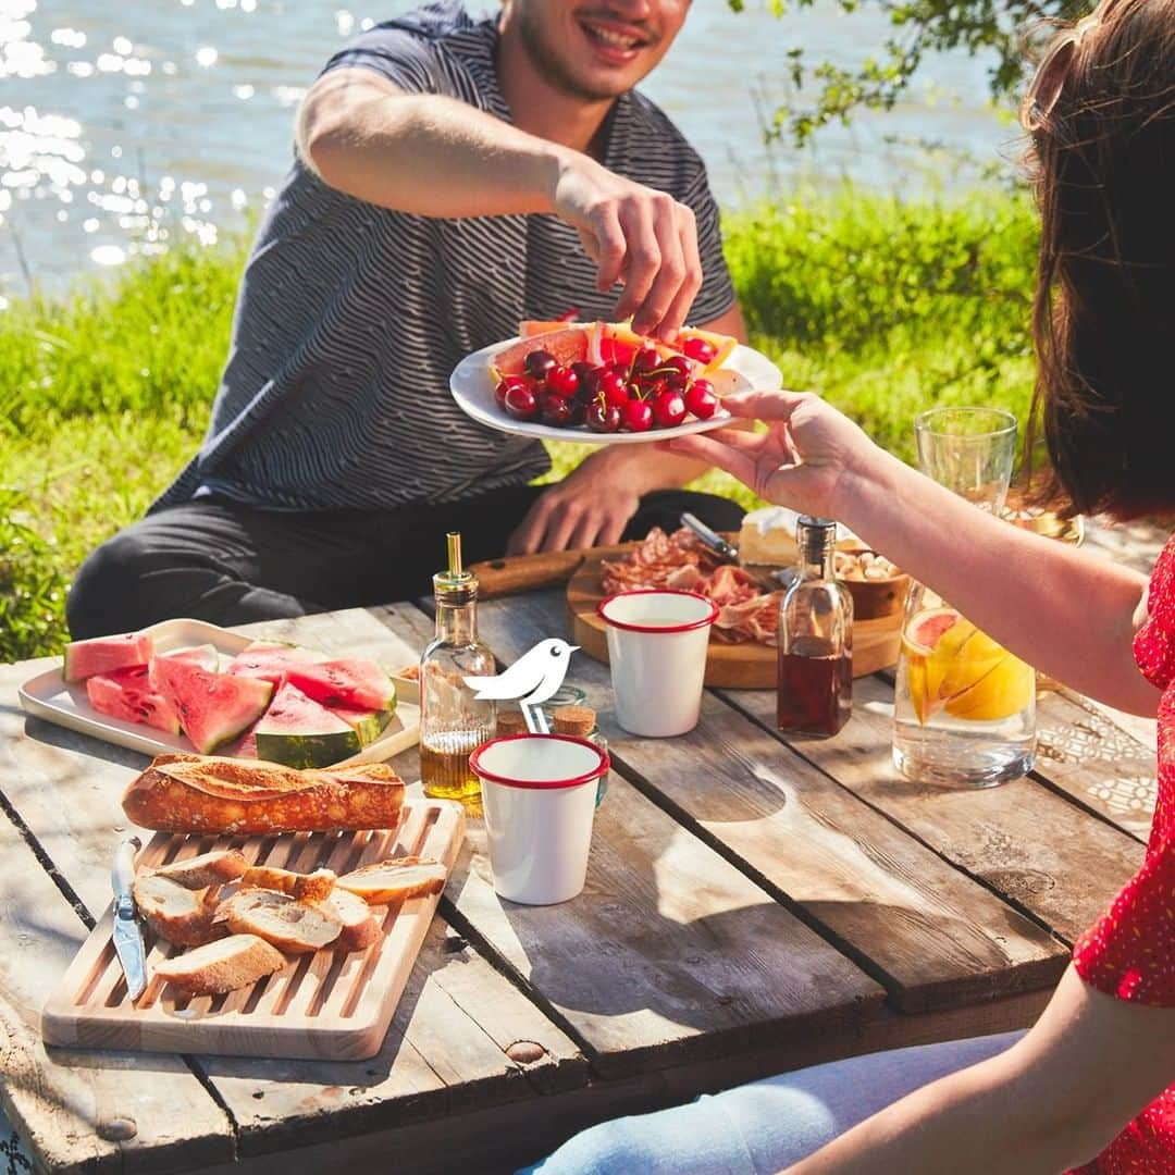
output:
[[[159,756],[122,797],[142,828],[188,833],[395,828],[404,781],[385,764],[296,771],[215,756]]]

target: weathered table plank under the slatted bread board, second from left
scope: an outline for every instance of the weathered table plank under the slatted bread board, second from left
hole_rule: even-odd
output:
[[[304,618],[254,625],[251,631],[327,652],[362,650],[388,663],[404,656],[407,647],[364,612],[342,620]],[[414,649],[408,650],[408,658],[415,659]],[[5,793],[94,918],[109,901],[110,858],[126,825],[121,794],[146,760],[26,719],[14,703],[15,685],[43,667],[0,669],[0,753],[7,757],[8,768]],[[411,757],[405,770],[414,765]],[[70,946],[70,955],[76,945]],[[49,976],[46,992],[58,974]],[[525,1060],[525,1052],[518,1053],[522,1060],[511,1059],[508,1050],[522,1040],[539,1046],[537,1060]],[[107,1054],[92,1055],[95,1066],[105,1066]],[[157,1059],[148,1058],[148,1062],[157,1063]],[[374,1061],[201,1059],[193,1063],[229,1107],[241,1130],[241,1146],[251,1153],[333,1139],[341,1130],[367,1129],[374,1122],[388,1126],[444,1116],[466,1097],[478,1104],[502,1103],[588,1080],[586,1062],[568,1036],[474,948],[457,940],[443,919],[431,929],[394,1029]],[[196,1077],[190,1080],[207,1099]]]

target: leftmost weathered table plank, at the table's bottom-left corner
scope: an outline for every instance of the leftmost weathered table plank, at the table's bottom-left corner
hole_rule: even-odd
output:
[[[229,1120],[168,1054],[46,1049],[41,1003],[88,933],[0,813],[0,1108],[52,1171],[173,1171],[228,1162]]]

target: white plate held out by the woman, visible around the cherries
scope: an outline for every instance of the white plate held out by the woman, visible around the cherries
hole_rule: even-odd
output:
[[[689,421],[674,429],[650,429],[647,432],[592,432],[585,424],[573,429],[555,429],[549,424],[516,421],[494,402],[490,357],[517,342],[517,338],[508,338],[503,343],[494,343],[491,347],[474,351],[472,355],[466,355],[449,377],[452,398],[457,401],[461,410],[478,424],[542,441],[575,441],[578,444],[647,444],[650,441],[669,441],[671,437],[684,437],[691,432],[709,432],[711,429],[720,429],[731,419],[730,412],[719,408],[709,421]],[[784,385],[779,368],[766,355],[741,343],[734,348],[731,357],[706,378],[714,385],[714,391],[719,396],[728,396],[734,391],[750,391],[752,388],[760,391],[777,391]]]

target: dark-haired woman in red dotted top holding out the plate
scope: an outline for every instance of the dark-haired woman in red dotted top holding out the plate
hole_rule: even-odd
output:
[[[1059,489],[1081,512],[1169,515],[1175,0],[1103,0],[1054,41],[1023,119],[1042,219],[1036,409]],[[1147,858],[1022,1036],[756,1082],[596,1127],[536,1169],[1171,1175],[1175,536],[1148,589],[1124,568],[975,510],[814,396],[751,392],[725,405],[767,431],[682,438],[673,450],[771,502],[841,519],[1050,676],[1132,713],[1157,711]]]

